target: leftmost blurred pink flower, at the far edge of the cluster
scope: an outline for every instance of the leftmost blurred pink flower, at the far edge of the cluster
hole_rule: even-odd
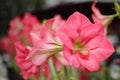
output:
[[[8,30],[8,34],[3,36],[0,40],[0,49],[4,50],[10,56],[13,56],[13,53],[15,53],[14,42],[20,38],[23,26],[20,17],[15,17],[14,19],[12,19],[9,25],[10,28]]]

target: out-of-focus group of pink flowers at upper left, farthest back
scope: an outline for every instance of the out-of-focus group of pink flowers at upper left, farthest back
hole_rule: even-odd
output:
[[[39,28],[40,24],[37,18],[30,13],[26,13],[23,19],[19,16],[15,17],[9,23],[8,35],[0,41],[0,49],[13,56],[15,53],[14,43],[20,40],[24,44],[31,44],[29,33],[31,30]]]

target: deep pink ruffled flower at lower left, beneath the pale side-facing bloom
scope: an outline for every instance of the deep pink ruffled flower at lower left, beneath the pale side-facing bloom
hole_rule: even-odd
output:
[[[26,59],[29,52],[31,51],[31,47],[25,46],[18,41],[15,43],[15,49],[17,52],[15,60],[21,69],[21,75],[25,80],[27,80],[29,77],[34,77],[35,80],[38,80],[40,75],[44,75],[47,80],[52,80],[52,75],[50,73],[50,68],[47,61],[45,61],[44,64],[38,66],[33,64],[31,60]],[[44,57],[42,57],[42,59],[44,59]]]

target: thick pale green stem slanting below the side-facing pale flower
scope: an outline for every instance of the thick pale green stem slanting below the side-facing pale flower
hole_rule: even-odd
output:
[[[53,80],[59,80],[57,72],[56,72],[55,67],[53,65],[52,58],[49,59],[48,64],[50,66],[50,70],[51,70],[51,73],[52,73],[52,76],[53,76]]]

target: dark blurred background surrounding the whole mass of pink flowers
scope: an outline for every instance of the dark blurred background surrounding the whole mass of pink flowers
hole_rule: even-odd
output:
[[[0,0],[0,38],[7,34],[9,21],[15,16],[23,16],[26,12],[39,20],[52,18],[60,14],[67,19],[74,11],[86,15],[91,21],[91,5],[94,0]],[[120,2],[120,0],[118,0]],[[114,14],[113,0],[98,0],[96,5],[102,14]],[[90,73],[88,80],[120,80],[120,19],[116,18],[108,28],[108,38],[115,47],[113,55],[103,62],[101,71]],[[0,80],[23,80],[10,66],[10,57],[0,51]],[[14,74],[14,75],[13,75]],[[87,74],[87,75],[86,75]],[[101,76],[98,76],[98,75]],[[84,77],[88,73],[84,73]],[[102,77],[102,78],[101,78]],[[83,79],[86,80],[86,79]]]

